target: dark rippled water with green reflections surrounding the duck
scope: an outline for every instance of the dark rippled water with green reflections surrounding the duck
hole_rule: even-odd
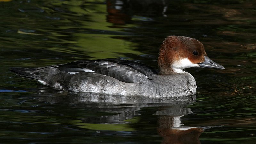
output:
[[[0,143],[255,144],[255,1],[1,0],[0,10]],[[169,35],[200,40],[226,68],[188,69],[195,97],[57,91],[8,70],[101,58],[157,68]]]

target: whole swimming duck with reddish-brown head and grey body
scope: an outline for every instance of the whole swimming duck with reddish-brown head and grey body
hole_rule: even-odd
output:
[[[9,67],[17,75],[58,90],[107,95],[180,97],[196,94],[196,81],[185,69],[225,68],[207,57],[190,37],[168,36],[159,49],[158,70],[117,58],[81,60],[38,68]]]

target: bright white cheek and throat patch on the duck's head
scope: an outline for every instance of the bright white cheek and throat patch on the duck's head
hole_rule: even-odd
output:
[[[177,73],[184,73],[183,69],[198,67],[199,64],[193,64],[188,58],[183,58],[172,63],[172,68]]]

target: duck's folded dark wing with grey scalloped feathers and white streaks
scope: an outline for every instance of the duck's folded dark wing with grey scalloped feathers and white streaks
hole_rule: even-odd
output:
[[[139,83],[145,79],[151,79],[151,75],[158,73],[145,64],[122,59],[76,61],[57,68],[72,73],[97,72],[127,83]]]

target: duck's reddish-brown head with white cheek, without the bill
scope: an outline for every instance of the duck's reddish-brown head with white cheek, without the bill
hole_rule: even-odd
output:
[[[159,73],[182,73],[185,68],[198,67],[205,61],[205,56],[200,41],[184,36],[168,36],[159,50]]]

